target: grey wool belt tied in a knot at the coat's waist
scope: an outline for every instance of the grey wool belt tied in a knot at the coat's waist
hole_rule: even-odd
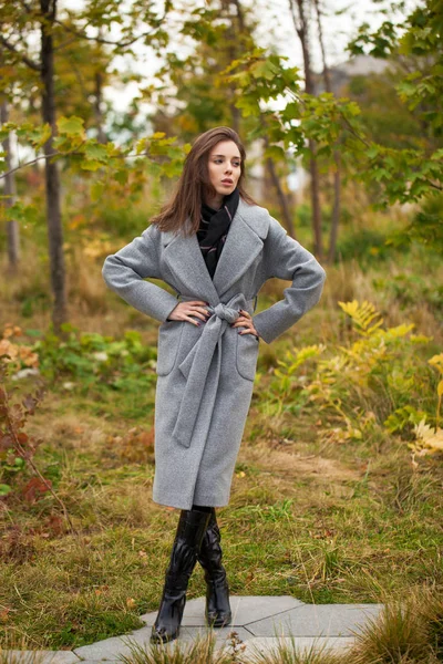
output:
[[[199,299],[188,295],[179,297],[183,300]],[[222,366],[222,338],[226,328],[238,319],[240,309],[253,313],[253,302],[254,300],[246,300],[244,293],[236,293],[226,304],[219,302],[216,305],[208,305],[207,309],[212,315],[207,319],[206,323],[203,323],[202,334],[197,343],[178,365],[179,371],[186,378],[186,385],[173,430],[173,437],[184,447],[190,446],[194,426],[204,394],[209,407],[214,407]],[[213,383],[212,392],[214,394],[209,394],[206,378],[216,349],[218,350],[216,381]]]

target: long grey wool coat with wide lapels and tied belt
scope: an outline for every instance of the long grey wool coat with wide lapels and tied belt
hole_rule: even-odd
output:
[[[189,224],[189,219],[186,220]],[[196,234],[159,231],[152,224],[107,256],[103,278],[158,326],[154,415],[153,500],[190,509],[228,505],[234,468],[253,396],[261,342],[275,341],[320,299],[326,272],[268,210],[241,197],[214,279]],[[264,283],[291,281],[282,299],[255,314]],[[161,279],[175,295],[145,281]],[[200,326],[168,321],[179,301],[203,300]],[[253,315],[259,339],[231,328],[239,309]]]

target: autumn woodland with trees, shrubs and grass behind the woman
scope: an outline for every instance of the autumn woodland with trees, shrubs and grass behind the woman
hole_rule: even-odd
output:
[[[175,522],[151,499],[157,323],[106,291],[101,267],[217,125],[245,141],[253,196],[328,274],[320,304],[260,347],[219,519],[231,592],[442,590],[443,9],[374,3],[377,29],[349,34],[341,68],[324,39],[336,8],[287,9],[300,66],[239,0],[0,2],[10,647],[92,643],[157,605]],[[140,44],[155,74],[117,66]],[[137,94],[115,112],[106,91],[127,83]],[[268,282],[258,311],[285,286]],[[188,596],[203,593],[195,575]]]

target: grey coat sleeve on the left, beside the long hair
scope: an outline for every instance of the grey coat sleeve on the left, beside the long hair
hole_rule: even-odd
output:
[[[156,245],[159,230],[152,224],[140,237],[105,258],[102,276],[106,286],[128,304],[165,322],[177,305],[177,299],[165,289],[144,281],[147,277],[162,279]]]

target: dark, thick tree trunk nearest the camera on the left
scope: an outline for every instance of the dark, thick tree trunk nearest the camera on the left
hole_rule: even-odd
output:
[[[42,13],[41,24],[41,81],[42,120],[49,123],[54,133],[55,127],[55,98],[54,98],[54,52],[52,31],[56,14],[56,0],[40,0]],[[53,152],[52,136],[43,146],[44,154]],[[66,288],[65,267],[63,256],[63,228],[60,205],[60,175],[58,163],[45,159],[45,193],[47,193],[47,221],[51,266],[51,286],[54,295],[52,322],[54,333],[61,333],[61,324],[66,321]]]

